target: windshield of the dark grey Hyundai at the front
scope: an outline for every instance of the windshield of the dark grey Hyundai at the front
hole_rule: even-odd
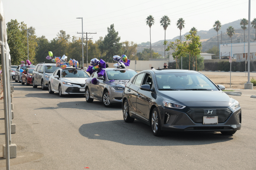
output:
[[[216,86],[199,73],[158,73],[155,74],[158,90],[213,90]]]

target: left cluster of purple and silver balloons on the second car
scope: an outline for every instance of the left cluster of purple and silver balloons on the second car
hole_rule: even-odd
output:
[[[103,59],[91,59],[90,65],[88,66],[87,72],[93,74],[93,72],[97,71],[98,77],[102,77],[105,74],[106,62]]]

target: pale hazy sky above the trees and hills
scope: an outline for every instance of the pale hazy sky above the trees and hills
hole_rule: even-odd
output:
[[[93,41],[105,37],[107,27],[114,24],[121,41],[137,43],[150,40],[146,17],[155,19],[151,27],[151,42],[164,40],[160,18],[167,15],[171,25],[166,30],[166,39],[180,35],[176,23],[185,20],[182,34],[193,26],[200,30],[212,28],[215,20],[221,24],[241,18],[248,19],[248,0],[2,0],[6,23],[11,19],[24,21],[35,27],[37,36],[48,40],[56,37],[60,30],[70,36],[81,36],[81,19],[84,32],[92,34]],[[256,0],[251,0],[251,20],[256,17]],[[225,30],[224,30],[225,31]],[[255,31],[255,29],[252,29]]]

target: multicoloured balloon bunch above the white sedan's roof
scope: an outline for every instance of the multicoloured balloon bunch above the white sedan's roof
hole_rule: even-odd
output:
[[[75,59],[70,59],[67,62],[67,56],[63,55],[62,57],[54,57],[52,51],[49,51],[49,56],[46,57],[46,59],[52,59],[52,62],[56,62],[56,67],[60,67],[62,69],[65,69],[67,67],[70,67],[74,65],[76,68],[78,68],[79,63]]]

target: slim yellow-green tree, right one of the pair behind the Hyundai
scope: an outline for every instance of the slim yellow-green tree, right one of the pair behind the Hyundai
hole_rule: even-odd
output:
[[[193,59],[193,70],[195,70],[195,62],[197,64],[197,59],[194,60],[194,57],[199,55],[201,53],[202,43],[200,42],[200,37],[194,32],[189,31],[190,34],[185,35],[186,40],[189,41],[187,51],[189,51],[192,54]],[[196,65],[197,68],[197,65]]]

